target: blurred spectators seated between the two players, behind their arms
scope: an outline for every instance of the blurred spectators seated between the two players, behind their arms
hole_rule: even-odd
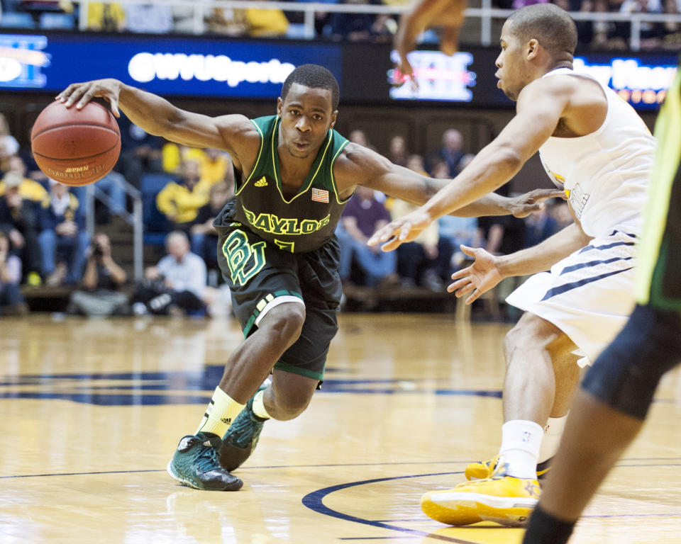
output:
[[[361,131],[353,130],[351,137],[355,142],[370,146]],[[398,164],[402,160],[404,166],[419,174],[438,179],[453,178],[474,157],[465,153],[463,136],[454,128],[443,132],[440,149],[428,152],[428,160],[421,154],[410,154],[402,135],[392,138],[386,155]],[[506,194],[508,186],[500,191]],[[336,231],[341,241],[341,279],[346,288],[393,290],[416,287],[443,291],[450,283],[451,274],[467,266],[467,257],[460,251],[461,244],[485,247],[493,254],[509,254],[538,244],[572,222],[567,204],[559,200],[549,202],[546,208],[526,219],[512,215],[441,217],[414,242],[402,244],[394,252],[384,253],[377,246],[366,245],[368,237],[377,228],[414,208],[402,200],[358,187]]]

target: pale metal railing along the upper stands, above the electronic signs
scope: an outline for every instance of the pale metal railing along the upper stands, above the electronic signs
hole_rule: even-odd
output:
[[[122,4],[145,4],[140,0],[104,0],[105,3]],[[89,0],[80,1],[79,28],[87,29],[87,10]],[[157,0],[157,5],[168,7],[191,7],[193,8],[193,33],[203,34],[206,30],[205,17],[212,8],[233,9],[280,9],[288,12],[303,13],[303,36],[306,39],[316,37],[314,21],[316,13],[373,13],[399,16],[406,11],[407,6],[377,6],[365,4],[322,4],[319,2],[286,2],[286,1],[250,1],[250,0]],[[482,0],[480,8],[467,8],[465,16],[468,20],[480,19],[480,44],[489,46],[496,43],[497,37],[492,36],[492,20],[505,19],[514,10],[498,9],[492,7],[492,0]],[[575,21],[596,22],[624,22],[631,24],[631,50],[638,51],[641,48],[641,26],[643,23],[674,22],[681,23],[681,14],[653,14],[653,13],[597,13],[597,12],[570,12]]]

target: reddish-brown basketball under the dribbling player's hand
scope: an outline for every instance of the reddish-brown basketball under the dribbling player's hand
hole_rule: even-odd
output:
[[[82,186],[109,174],[121,152],[114,115],[89,102],[82,110],[53,102],[31,131],[33,157],[43,173],[60,183]]]

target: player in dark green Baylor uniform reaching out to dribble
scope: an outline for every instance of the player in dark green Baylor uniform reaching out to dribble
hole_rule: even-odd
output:
[[[255,120],[182,111],[115,79],[72,84],[57,100],[82,108],[94,96],[150,134],[231,154],[236,198],[215,227],[245,340],[228,359],[199,428],[179,441],[168,472],[196,489],[239,489],[243,483],[229,471],[248,458],[263,422],[301,414],[323,378],[341,300],[333,231],[355,186],[423,204],[445,180],[395,166],[333,130],[338,83],[316,64],[284,81],[277,115]],[[492,194],[457,213],[522,217],[560,194]],[[270,385],[259,390],[270,372]]]

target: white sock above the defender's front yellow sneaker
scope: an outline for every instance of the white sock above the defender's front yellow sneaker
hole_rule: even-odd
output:
[[[508,467],[506,475],[516,478],[536,478],[537,458],[544,430],[534,421],[514,419],[502,426],[502,447]]]

